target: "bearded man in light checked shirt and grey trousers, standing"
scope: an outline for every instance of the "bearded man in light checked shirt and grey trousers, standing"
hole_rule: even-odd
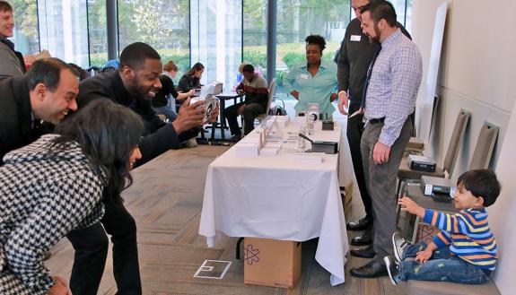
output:
[[[361,139],[365,182],[372,197],[374,258],[351,269],[357,277],[386,275],[384,256],[392,255],[396,231],[396,177],[405,146],[412,134],[409,115],[421,83],[423,62],[414,42],[396,25],[396,12],[387,1],[361,9],[362,29],[380,43],[369,67],[362,108],[366,120]]]

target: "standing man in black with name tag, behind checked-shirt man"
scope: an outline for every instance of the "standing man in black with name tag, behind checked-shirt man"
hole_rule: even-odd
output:
[[[369,3],[369,0],[352,0],[351,7],[354,10],[356,18],[349,22],[345,29],[345,37],[338,52],[337,60],[337,81],[338,81],[338,110],[341,114],[347,115],[344,108],[348,112],[354,114],[361,108],[363,86],[367,75],[367,68],[371,65],[372,56],[380,48],[380,44],[369,41],[361,28],[362,13],[360,10]],[[407,30],[403,28],[401,23],[397,23],[401,32],[410,38]],[[359,236],[351,239],[351,245],[367,246],[363,249],[352,249],[352,256],[364,258],[372,258],[374,251],[372,249],[372,201],[371,195],[367,191],[365,178],[363,175],[362,152],[360,150],[360,140],[363,134],[363,113],[359,113],[347,120],[347,141],[353,161],[354,176],[360,190],[363,207],[365,209],[365,217],[358,221],[351,221],[346,224],[347,230],[364,230]]]

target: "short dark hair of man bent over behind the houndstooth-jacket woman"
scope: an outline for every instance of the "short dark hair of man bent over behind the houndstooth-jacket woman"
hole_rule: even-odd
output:
[[[72,66],[56,57],[42,58],[35,61],[27,74],[25,74],[29,90],[33,91],[36,85],[43,83],[49,91],[56,91],[61,71],[65,69],[70,70],[75,76],[79,75]]]

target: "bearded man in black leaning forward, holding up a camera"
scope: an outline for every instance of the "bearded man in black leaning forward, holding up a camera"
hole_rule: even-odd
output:
[[[142,159],[136,161],[136,165],[178,148],[181,142],[197,135],[190,131],[191,128],[203,124],[203,101],[189,105],[188,99],[179,108],[178,117],[172,124],[165,124],[156,115],[151,100],[162,87],[160,74],[160,55],[149,45],[136,42],[120,54],[118,71],[96,75],[79,85],[79,108],[92,100],[108,99],[131,108],[142,117],[146,132],[138,144]],[[218,108],[211,121],[217,116]],[[136,222],[124,204],[110,202],[104,205],[106,213],[101,223],[73,230],[67,235],[75,249],[70,289],[74,295],[97,294],[108,254],[107,232],[113,243],[113,273],[118,294],[142,294]]]

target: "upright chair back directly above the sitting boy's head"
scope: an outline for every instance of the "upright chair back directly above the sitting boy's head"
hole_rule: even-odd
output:
[[[473,157],[471,162],[469,162],[469,170],[485,169],[489,166],[499,130],[500,127],[484,122],[482,128],[480,128],[480,134],[478,134]]]

